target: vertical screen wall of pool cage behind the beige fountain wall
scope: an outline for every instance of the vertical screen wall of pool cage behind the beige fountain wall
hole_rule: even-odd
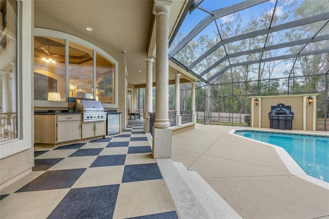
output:
[[[309,82],[304,83],[303,88],[295,92],[284,90],[282,87],[294,87],[296,86],[294,83],[303,81],[304,77],[223,83],[212,86],[197,84],[196,120],[202,124],[250,126],[250,96],[319,94],[316,127],[318,131],[329,131],[327,73],[308,76]],[[316,86],[312,89],[310,83],[315,80]]]

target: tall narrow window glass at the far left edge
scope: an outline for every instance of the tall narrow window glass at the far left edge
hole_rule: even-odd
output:
[[[0,1],[0,142],[17,133],[16,1]]]

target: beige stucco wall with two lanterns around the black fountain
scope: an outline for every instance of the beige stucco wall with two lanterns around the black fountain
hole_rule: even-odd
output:
[[[312,94],[314,103],[309,105],[306,98],[310,95],[264,96],[251,97],[251,126],[269,128],[268,113],[272,105],[283,103],[291,106],[294,113],[293,129],[315,131],[316,123],[316,96]],[[259,104],[254,104],[254,99],[259,99]]]

